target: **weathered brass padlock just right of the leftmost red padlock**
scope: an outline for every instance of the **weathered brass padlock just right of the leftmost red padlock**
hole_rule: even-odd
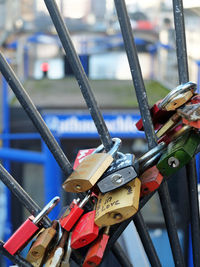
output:
[[[48,251],[48,248],[56,236],[56,227],[58,225],[57,221],[53,221],[52,226],[44,229],[37,236],[35,242],[32,244],[26,259],[34,267],[40,267],[43,264],[44,257]]]

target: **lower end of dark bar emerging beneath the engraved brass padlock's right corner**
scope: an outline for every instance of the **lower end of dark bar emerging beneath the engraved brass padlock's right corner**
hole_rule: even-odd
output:
[[[162,265],[154,248],[153,242],[148,234],[148,228],[140,212],[135,214],[133,221],[147,255],[151,255],[151,257],[148,257],[151,266],[161,267]]]

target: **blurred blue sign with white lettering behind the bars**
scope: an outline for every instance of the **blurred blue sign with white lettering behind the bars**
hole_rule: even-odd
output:
[[[90,114],[66,113],[66,114],[45,114],[44,120],[53,134],[65,138],[98,138],[95,124]],[[134,113],[104,113],[105,123],[111,136],[136,138],[144,137],[139,132],[135,123],[140,119]]]

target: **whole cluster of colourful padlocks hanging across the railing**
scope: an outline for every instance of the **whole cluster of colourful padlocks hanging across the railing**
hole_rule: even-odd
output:
[[[139,201],[187,164],[200,143],[200,95],[188,82],[173,89],[151,108],[158,145],[139,159],[119,152],[121,140],[113,147],[79,151],[74,171],[63,188],[79,193],[64,213],[43,228],[42,219],[58,203],[55,197],[36,217],[29,217],[9,238],[4,248],[12,255],[33,238],[27,261],[33,266],[70,266],[72,250],[86,247],[83,267],[98,266],[109,240],[110,226],[132,217]],[[143,130],[142,120],[136,124]]]

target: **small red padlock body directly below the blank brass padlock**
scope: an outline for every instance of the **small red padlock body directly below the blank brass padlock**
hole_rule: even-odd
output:
[[[59,219],[60,225],[66,231],[70,231],[78,219],[83,214],[83,209],[80,208],[75,201],[73,201],[70,207],[65,211],[62,217]]]

